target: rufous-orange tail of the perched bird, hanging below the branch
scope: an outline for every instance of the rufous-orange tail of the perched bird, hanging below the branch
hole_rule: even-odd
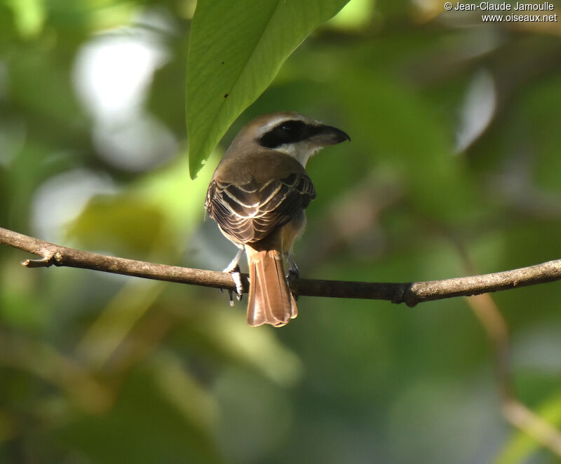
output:
[[[277,250],[246,247],[250,267],[248,324],[282,327],[298,315],[296,301],[285,278],[283,259]]]

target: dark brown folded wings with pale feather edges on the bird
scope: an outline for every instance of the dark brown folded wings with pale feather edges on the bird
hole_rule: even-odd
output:
[[[290,221],[313,198],[316,191],[311,179],[302,173],[293,172],[264,183],[254,177],[245,184],[213,179],[205,208],[232,240],[255,243]]]

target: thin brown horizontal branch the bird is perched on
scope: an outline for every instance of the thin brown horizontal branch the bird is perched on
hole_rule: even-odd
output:
[[[38,238],[25,236],[0,227],[0,243],[36,254],[41,259],[26,259],[23,266],[29,268],[48,266],[69,266],[93,269],[115,274],[133,275],[154,280],[165,280],[203,287],[235,289],[231,274],[204,271],[154,264],[134,259],[109,257],[103,254],[84,252],[74,248],[62,247]],[[327,296],[331,298],[360,298],[388,300],[393,303],[406,303],[415,306],[423,301],[471,296],[496,292],[514,287],[525,287],[561,280],[561,259],[548,261],[536,266],[503,271],[492,274],[473,275],[446,280],[426,282],[384,283],[384,282],[345,282],[341,280],[312,280],[298,278],[290,285],[297,295]],[[247,292],[248,275],[242,275]]]

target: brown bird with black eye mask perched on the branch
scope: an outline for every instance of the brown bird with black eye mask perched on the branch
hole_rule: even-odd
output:
[[[288,283],[299,275],[292,245],[306,226],[304,210],[316,198],[306,163],[325,146],[346,140],[350,137],[342,130],[294,111],[277,111],[244,125],[217,165],[205,209],[238,247],[224,272],[237,277],[239,298],[238,262],[247,253],[248,325],[282,327],[296,318]]]

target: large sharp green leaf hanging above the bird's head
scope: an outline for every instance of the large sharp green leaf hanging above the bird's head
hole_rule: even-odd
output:
[[[348,0],[199,0],[187,59],[189,171],[313,29]]]

